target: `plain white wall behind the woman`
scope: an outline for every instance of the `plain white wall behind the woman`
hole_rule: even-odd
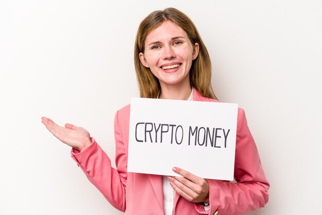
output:
[[[122,214],[40,118],[86,128],[114,160],[137,27],[170,6],[198,27],[216,95],[246,111],[271,183],[249,214],[322,213],[321,1],[33,0],[0,3],[0,214]]]

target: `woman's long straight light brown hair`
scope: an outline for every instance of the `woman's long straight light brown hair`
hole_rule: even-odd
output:
[[[158,79],[145,67],[139,59],[139,53],[144,53],[147,35],[165,21],[171,21],[186,31],[192,44],[199,44],[199,55],[192,61],[189,71],[190,85],[203,96],[217,99],[211,87],[211,62],[208,51],[198,30],[189,17],[175,8],[157,10],[150,13],[139,25],[134,47],[134,64],[137,82],[142,98],[156,98],[160,90]]]

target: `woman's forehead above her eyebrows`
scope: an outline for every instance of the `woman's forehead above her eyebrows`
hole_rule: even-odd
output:
[[[159,27],[153,29],[146,38],[145,44],[151,42],[166,42],[174,37],[184,37],[188,40],[188,35],[180,26],[171,22],[165,21]]]

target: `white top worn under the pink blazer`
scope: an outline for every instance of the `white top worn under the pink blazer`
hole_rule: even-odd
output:
[[[157,96],[157,98],[159,98],[159,96]],[[193,88],[188,100],[189,101],[193,100]],[[167,176],[165,175],[162,176],[162,188],[163,188],[163,205],[164,205],[165,215],[172,215],[174,190],[172,189],[170,182]]]

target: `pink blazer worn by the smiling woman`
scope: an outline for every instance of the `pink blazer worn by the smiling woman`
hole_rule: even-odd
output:
[[[194,90],[195,101],[218,102],[203,97]],[[116,166],[112,168],[108,155],[94,138],[92,145],[82,152],[71,150],[71,156],[82,168],[88,180],[115,208],[131,215],[162,215],[162,176],[127,172],[129,146],[130,105],[115,115]],[[240,214],[263,207],[269,200],[269,183],[266,181],[255,141],[249,132],[245,113],[238,110],[235,173],[237,183],[207,180],[210,185],[210,210],[175,194],[173,214]]]

